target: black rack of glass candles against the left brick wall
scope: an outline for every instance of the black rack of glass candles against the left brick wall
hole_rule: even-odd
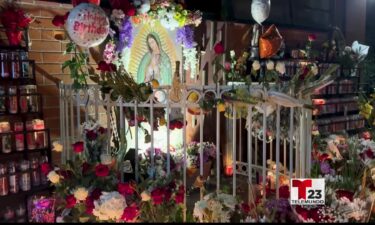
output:
[[[5,215],[16,211],[21,204],[26,209],[21,218],[28,222],[28,199],[40,193],[51,194],[49,181],[40,166],[44,162],[51,163],[50,130],[42,120],[43,96],[37,92],[35,62],[28,59],[28,48],[0,46],[0,164],[5,166],[0,174],[1,222],[17,221],[17,217],[8,220]],[[36,160],[36,168],[21,171],[20,162],[25,160],[30,166],[32,160]],[[13,172],[9,169],[10,162],[16,165]],[[30,190],[22,190],[23,174],[26,180],[22,182],[34,182],[35,176],[40,179],[44,176],[44,182],[33,183]],[[17,193],[10,192],[14,183],[18,185]],[[4,188],[9,189],[7,194]]]

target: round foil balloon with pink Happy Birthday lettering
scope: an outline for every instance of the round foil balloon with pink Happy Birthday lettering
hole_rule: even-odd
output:
[[[69,13],[66,30],[77,45],[90,48],[106,39],[109,20],[99,6],[81,3]]]

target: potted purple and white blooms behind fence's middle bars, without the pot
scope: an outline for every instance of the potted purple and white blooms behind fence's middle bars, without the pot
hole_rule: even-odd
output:
[[[199,142],[191,142],[187,146],[187,164],[189,167],[200,167],[200,147]],[[216,159],[216,146],[213,143],[202,142],[203,164],[213,162]]]

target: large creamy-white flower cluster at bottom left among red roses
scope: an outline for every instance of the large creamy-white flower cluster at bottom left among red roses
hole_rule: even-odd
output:
[[[126,201],[117,191],[103,192],[99,200],[94,201],[93,215],[101,221],[118,220],[126,207]]]

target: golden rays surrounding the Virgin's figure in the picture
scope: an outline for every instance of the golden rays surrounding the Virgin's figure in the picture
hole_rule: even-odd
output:
[[[137,27],[138,33],[134,36],[133,45],[130,52],[130,61],[128,71],[131,73],[133,78],[137,80],[138,66],[142,60],[142,57],[148,51],[146,44],[146,37],[149,33],[155,32],[159,35],[161,41],[161,48],[168,55],[171,60],[172,74],[176,68],[175,61],[178,60],[176,47],[178,46],[173,40],[173,31],[168,31],[159,22],[154,24],[144,24]],[[174,31],[175,33],[176,31]]]

